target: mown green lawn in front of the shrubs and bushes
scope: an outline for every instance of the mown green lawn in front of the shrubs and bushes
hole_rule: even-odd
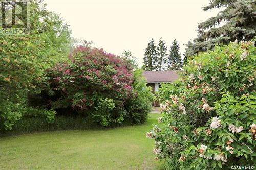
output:
[[[143,125],[97,131],[55,131],[0,139],[0,169],[161,169]]]

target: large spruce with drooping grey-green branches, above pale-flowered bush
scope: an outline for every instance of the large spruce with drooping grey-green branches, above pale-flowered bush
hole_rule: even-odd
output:
[[[216,17],[211,17],[198,25],[198,38],[194,44],[188,44],[185,56],[200,51],[211,50],[216,44],[228,44],[230,41],[251,40],[256,33],[255,0],[210,0],[204,11],[226,7]],[[220,27],[220,23],[224,24]],[[191,50],[191,49],[192,50]]]

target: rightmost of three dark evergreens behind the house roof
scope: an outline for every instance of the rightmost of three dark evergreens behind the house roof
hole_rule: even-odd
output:
[[[182,61],[179,50],[179,43],[176,41],[176,39],[174,39],[173,44],[170,46],[170,54],[167,60],[168,70],[178,70],[182,67]]]

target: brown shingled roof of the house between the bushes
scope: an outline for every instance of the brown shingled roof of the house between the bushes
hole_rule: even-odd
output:
[[[179,78],[178,71],[144,71],[147,83],[172,82]]]

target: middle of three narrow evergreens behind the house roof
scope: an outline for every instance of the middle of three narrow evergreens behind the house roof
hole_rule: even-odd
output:
[[[167,47],[165,46],[165,42],[160,38],[158,47],[157,47],[157,55],[158,55],[158,62],[157,62],[157,70],[163,70],[163,66],[166,63],[166,51]]]

